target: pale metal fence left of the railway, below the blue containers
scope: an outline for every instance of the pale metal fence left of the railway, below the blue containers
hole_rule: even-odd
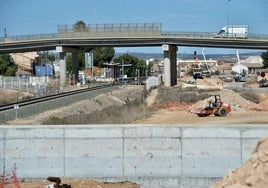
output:
[[[11,89],[11,90],[18,90],[33,93],[35,95],[44,96],[47,94],[48,91],[48,83],[52,82],[54,84],[54,88],[57,87],[57,79],[42,76],[42,77],[20,77],[20,76],[0,76],[0,89]],[[56,89],[54,89],[56,90]],[[55,91],[56,93],[56,91]]]

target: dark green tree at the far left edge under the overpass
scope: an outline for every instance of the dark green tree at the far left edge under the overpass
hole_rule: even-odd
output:
[[[11,55],[0,54],[0,75],[15,76],[18,70],[18,65],[15,64]]]

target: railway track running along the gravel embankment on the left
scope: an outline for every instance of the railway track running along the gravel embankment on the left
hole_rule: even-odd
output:
[[[60,93],[60,94],[44,96],[44,97],[38,97],[38,98],[27,100],[27,101],[9,103],[9,104],[5,104],[5,105],[1,105],[0,112],[14,109],[16,107],[27,106],[27,105],[36,104],[36,103],[40,103],[40,102],[44,102],[44,101],[48,101],[48,100],[52,100],[52,99],[63,98],[63,97],[71,96],[71,95],[84,93],[84,92],[103,89],[103,88],[107,88],[110,86],[111,86],[110,84],[102,84],[102,85],[92,86],[92,87],[85,88],[85,89],[79,89],[79,90],[74,90],[74,91],[69,91],[69,92],[64,92],[64,93]]]

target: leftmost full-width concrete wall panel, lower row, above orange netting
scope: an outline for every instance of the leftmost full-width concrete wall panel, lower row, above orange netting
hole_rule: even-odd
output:
[[[28,158],[28,159],[8,159],[6,168],[17,167],[18,178],[45,179],[48,176],[64,175],[63,158]]]

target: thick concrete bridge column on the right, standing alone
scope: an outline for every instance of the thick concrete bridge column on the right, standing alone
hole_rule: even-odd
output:
[[[164,51],[164,85],[177,85],[177,46],[165,44]]]

